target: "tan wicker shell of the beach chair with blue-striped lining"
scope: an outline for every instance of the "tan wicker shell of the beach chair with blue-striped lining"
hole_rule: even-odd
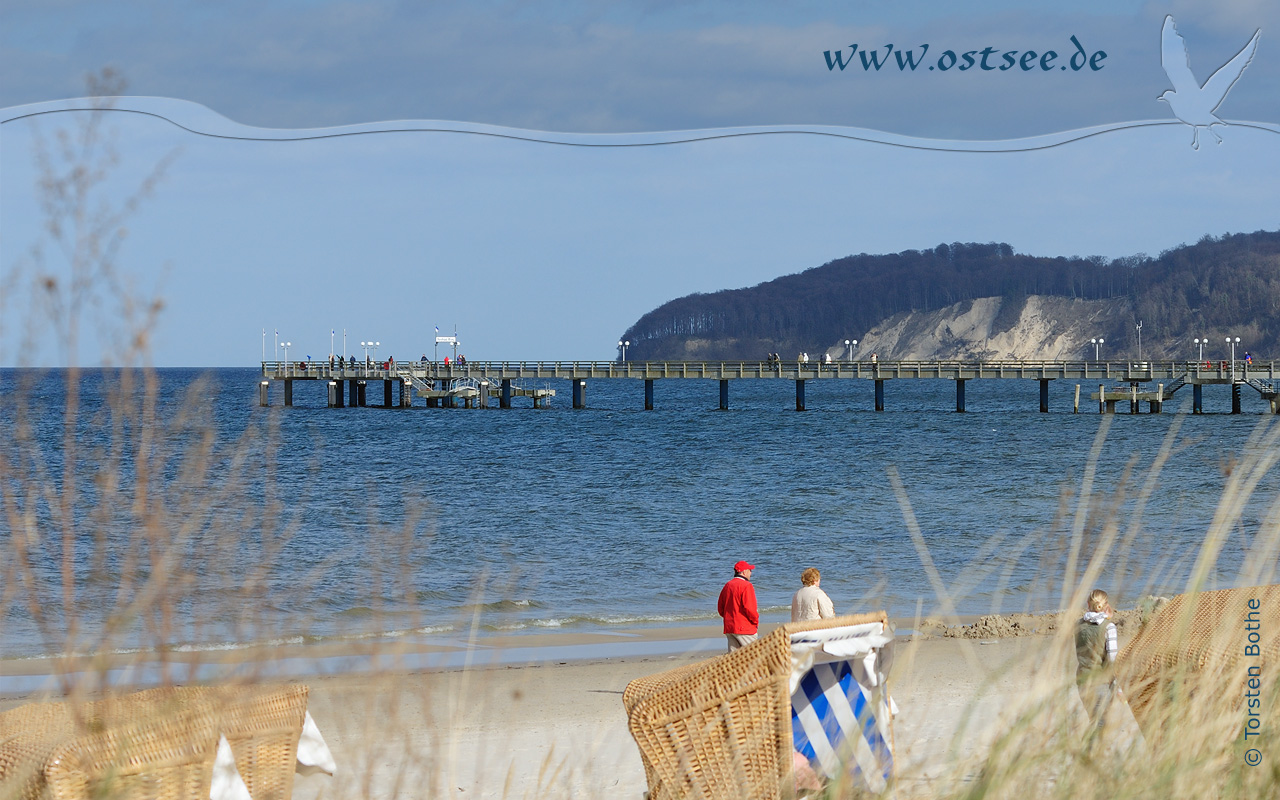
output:
[[[892,637],[884,612],[795,622],[726,655],[628,684],[622,703],[652,800],[794,796],[792,691],[801,680],[794,675],[808,677],[810,667],[792,660],[792,637],[869,623],[878,623],[878,635]],[[868,712],[887,707],[883,684],[876,694]],[[887,751],[878,755],[891,764],[888,717],[884,713],[873,723],[888,732]],[[859,719],[865,721],[865,716]],[[884,776],[877,780],[882,783]]]

